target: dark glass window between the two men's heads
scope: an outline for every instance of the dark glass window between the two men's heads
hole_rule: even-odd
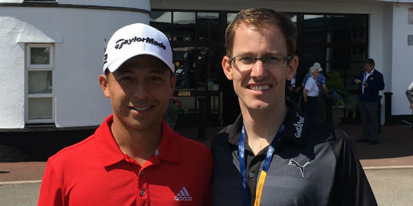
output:
[[[162,31],[173,48],[176,74],[174,95],[187,109],[187,115],[184,115],[186,122],[198,122],[198,97],[207,101],[211,124],[219,122],[216,119],[220,111],[217,106],[220,102],[219,77],[223,56],[220,54],[224,54],[221,41],[225,32],[220,16],[220,12],[211,11],[151,11],[150,25]]]

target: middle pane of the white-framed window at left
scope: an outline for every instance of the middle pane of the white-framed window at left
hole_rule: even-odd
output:
[[[28,71],[29,93],[52,93],[52,71]]]

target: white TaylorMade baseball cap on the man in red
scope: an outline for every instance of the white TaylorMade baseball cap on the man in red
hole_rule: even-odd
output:
[[[106,69],[114,72],[129,58],[142,54],[159,58],[172,72],[175,71],[167,36],[149,25],[134,23],[120,28],[110,38],[103,60],[103,73]]]

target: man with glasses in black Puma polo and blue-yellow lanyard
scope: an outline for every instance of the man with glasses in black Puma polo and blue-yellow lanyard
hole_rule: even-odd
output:
[[[214,205],[377,205],[346,133],[285,102],[298,65],[285,14],[242,10],[222,67],[242,114],[213,140]]]

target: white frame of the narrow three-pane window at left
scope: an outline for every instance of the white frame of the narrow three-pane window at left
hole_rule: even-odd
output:
[[[49,47],[49,64],[32,65],[30,63],[30,48]],[[55,98],[54,98],[54,44],[35,44],[28,43],[25,46],[25,123],[26,124],[42,124],[54,123],[55,119]],[[52,93],[29,93],[29,71],[52,71]],[[29,99],[30,98],[52,98],[52,118],[51,119],[29,119]]]

